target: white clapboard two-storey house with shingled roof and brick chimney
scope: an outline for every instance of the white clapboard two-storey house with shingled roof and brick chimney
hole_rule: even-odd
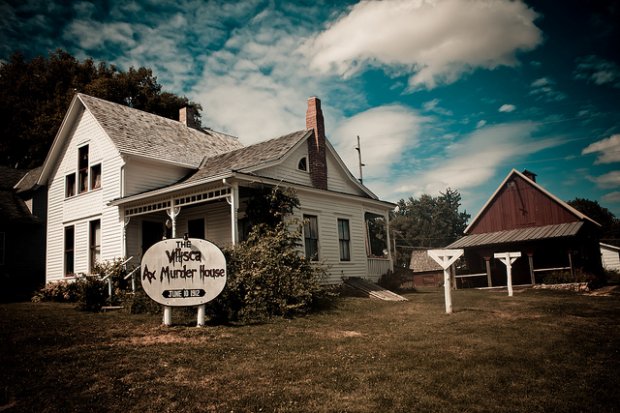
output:
[[[304,252],[326,264],[328,283],[377,280],[392,268],[369,226],[387,226],[381,201],[326,140],[320,100],[308,99],[306,129],[244,147],[236,138],[76,94],[45,160],[46,281],[89,273],[96,261],[133,257],[162,239],[234,245],[252,189],[295,189]],[[373,245],[373,247],[371,247]],[[374,255],[373,255],[374,253]]]

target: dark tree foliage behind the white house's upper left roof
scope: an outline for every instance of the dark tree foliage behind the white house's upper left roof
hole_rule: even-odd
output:
[[[0,63],[0,163],[31,168],[43,163],[76,92],[132,106],[170,119],[199,104],[162,92],[151,69],[124,72],[105,62],[79,61],[63,50],[26,60],[20,53]]]

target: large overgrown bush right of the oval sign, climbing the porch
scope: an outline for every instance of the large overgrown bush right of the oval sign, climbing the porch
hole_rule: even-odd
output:
[[[325,271],[299,254],[300,233],[287,224],[255,226],[248,240],[224,251],[228,273],[224,291],[209,304],[220,321],[253,323],[294,316],[324,304]]]

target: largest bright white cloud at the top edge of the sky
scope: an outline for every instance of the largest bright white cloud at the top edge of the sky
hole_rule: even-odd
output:
[[[350,77],[377,65],[411,73],[411,89],[449,84],[477,68],[516,66],[542,41],[522,1],[360,2],[304,46],[311,66]]]

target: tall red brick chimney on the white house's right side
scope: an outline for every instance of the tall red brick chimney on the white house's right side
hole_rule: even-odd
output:
[[[314,137],[308,139],[308,165],[310,179],[315,188],[327,189],[327,161],[325,159],[325,122],[321,101],[317,97],[308,99],[306,129],[314,130]]]

